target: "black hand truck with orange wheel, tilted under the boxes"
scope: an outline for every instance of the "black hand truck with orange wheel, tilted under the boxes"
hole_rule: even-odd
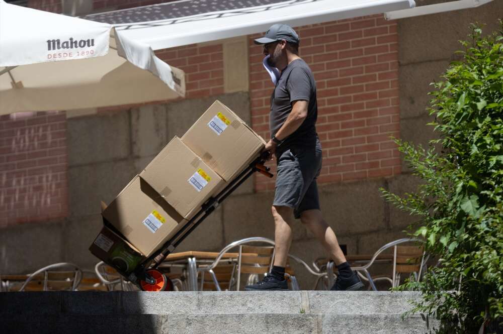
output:
[[[273,174],[269,172],[270,168],[264,166],[264,163],[269,157],[270,153],[265,151],[260,157],[251,162],[222,191],[216,196],[210,197],[182,229],[180,229],[170,240],[167,240],[157,251],[142,261],[133,272],[126,274],[120,269],[115,268],[117,272],[143,291],[173,290],[173,283],[171,280],[157,270],[157,267],[164,261],[166,256],[171,254],[175,248],[191,234],[191,232],[194,231],[194,229],[196,229],[199,224],[201,224],[201,222],[227,198],[227,196],[246,181],[248,177],[255,172],[262,173],[267,177],[273,177]],[[103,221],[108,228],[118,233],[117,229],[115,229],[105,218]]]

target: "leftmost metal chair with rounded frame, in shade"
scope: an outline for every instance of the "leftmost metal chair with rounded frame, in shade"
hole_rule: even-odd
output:
[[[29,285],[29,283],[34,278],[40,278],[41,274],[43,277],[43,285],[40,289],[41,291],[75,291],[77,289],[77,286],[80,284],[80,280],[82,279],[82,271],[73,263],[54,263],[40,268],[39,270],[30,274],[18,291],[25,291],[25,288]]]

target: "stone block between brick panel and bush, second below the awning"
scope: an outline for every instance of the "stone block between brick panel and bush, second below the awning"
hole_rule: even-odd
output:
[[[428,93],[434,90],[430,83],[440,80],[449,61],[429,61],[401,65],[398,69],[400,82],[400,120],[428,115],[432,96]]]

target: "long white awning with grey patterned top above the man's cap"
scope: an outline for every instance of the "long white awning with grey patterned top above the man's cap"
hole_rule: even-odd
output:
[[[128,39],[159,50],[260,33],[275,23],[298,27],[414,6],[413,0],[184,0],[85,18],[110,23]]]

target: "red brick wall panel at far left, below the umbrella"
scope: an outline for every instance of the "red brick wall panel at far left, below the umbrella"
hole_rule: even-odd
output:
[[[0,117],[0,228],[65,217],[64,113]]]

